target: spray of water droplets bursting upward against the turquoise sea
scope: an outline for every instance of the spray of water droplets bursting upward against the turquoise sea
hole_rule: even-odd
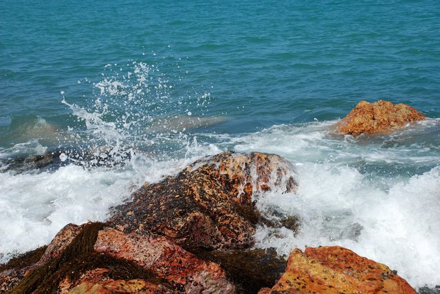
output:
[[[62,92],[62,103],[80,124],[69,126],[60,145],[75,142],[65,154],[86,166],[102,161],[118,166],[139,152],[169,159],[184,154],[192,140],[190,129],[222,121],[206,117],[210,93],[182,95],[157,65],[106,65],[102,77],[93,83],[98,91],[88,106],[67,102]]]

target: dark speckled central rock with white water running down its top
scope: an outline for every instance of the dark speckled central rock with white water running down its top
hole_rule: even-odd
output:
[[[264,218],[252,197],[294,192],[292,166],[278,155],[223,152],[196,161],[159,183],[144,185],[109,220],[124,232],[166,236],[192,250],[246,248]]]

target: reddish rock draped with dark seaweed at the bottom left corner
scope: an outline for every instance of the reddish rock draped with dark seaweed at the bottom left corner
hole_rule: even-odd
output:
[[[197,258],[165,237],[124,234],[102,223],[66,226],[41,259],[27,267],[14,288],[2,291],[234,293],[235,289],[218,264]],[[8,280],[8,273],[2,280]]]

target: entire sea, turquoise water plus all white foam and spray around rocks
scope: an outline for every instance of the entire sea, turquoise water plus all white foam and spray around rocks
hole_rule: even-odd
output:
[[[440,1],[3,0],[0,15],[0,262],[199,157],[256,150],[299,183],[257,205],[302,221],[259,227],[256,247],[342,245],[440,284]],[[334,132],[380,99],[428,120]],[[56,165],[23,168],[47,152]]]

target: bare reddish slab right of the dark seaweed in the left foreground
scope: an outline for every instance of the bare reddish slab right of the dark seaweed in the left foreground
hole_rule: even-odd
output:
[[[148,238],[105,228],[99,231],[94,249],[118,259],[131,260],[186,293],[234,292],[234,286],[218,264],[197,258],[165,237]]]

